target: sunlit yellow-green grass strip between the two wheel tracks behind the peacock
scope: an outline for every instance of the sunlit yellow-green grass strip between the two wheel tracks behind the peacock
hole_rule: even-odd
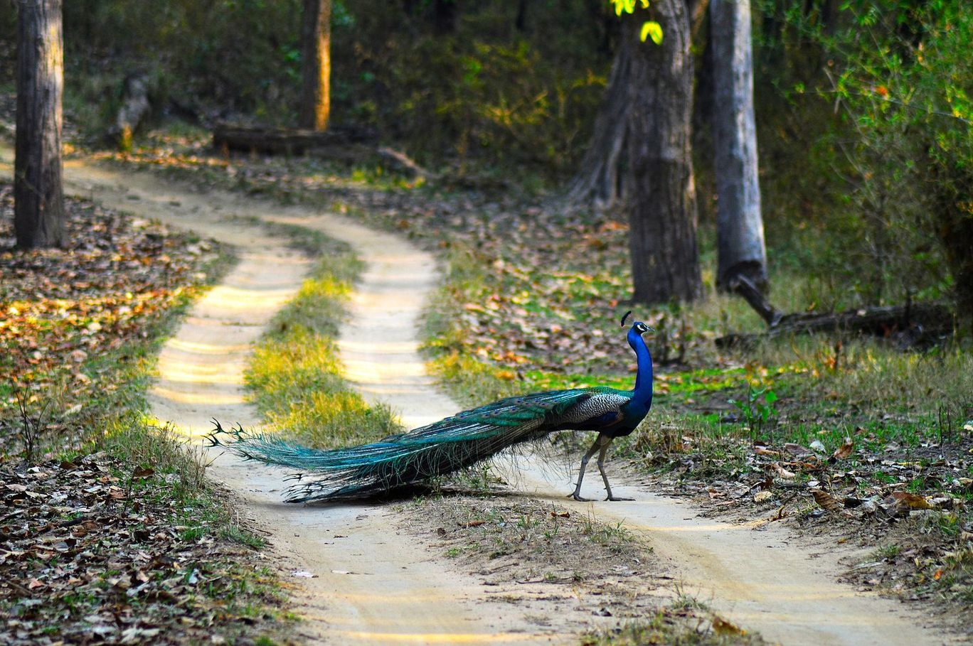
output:
[[[400,432],[394,413],[370,406],[342,377],[336,338],[361,263],[350,248],[323,236],[317,266],[298,295],[270,323],[245,379],[270,425],[318,449],[362,444]]]

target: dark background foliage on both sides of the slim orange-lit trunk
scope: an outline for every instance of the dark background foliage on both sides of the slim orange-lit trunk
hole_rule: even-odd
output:
[[[450,7],[444,16],[441,3],[335,2],[332,122],[373,126],[427,163],[573,170],[611,61],[607,3]],[[138,71],[152,79],[157,118],[188,109],[207,124],[293,126],[302,13],[299,0],[66,3],[65,104],[100,135]],[[0,6],[0,45],[12,42],[13,16]]]

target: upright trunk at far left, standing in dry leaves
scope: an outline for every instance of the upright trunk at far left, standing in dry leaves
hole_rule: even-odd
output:
[[[61,0],[18,2],[14,228],[18,247],[63,246]]]

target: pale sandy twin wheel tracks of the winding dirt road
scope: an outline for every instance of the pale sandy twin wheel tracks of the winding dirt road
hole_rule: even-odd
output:
[[[9,151],[4,151],[9,159]],[[153,412],[187,433],[208,419],[259,424],[245,403],[241,375],[252,341],[295,293],[307,261],[262,229],[228,220],[256,216],[300,224],[350,243],[367,264],[342,330],[348,377],[372,401],[384,401],[410,426],[458,410],[426,376],[415,322],[437,282],[434,259],[407,241],[339,216],[280,207],[228,193],[195,194],[143,174],[72,162],[69,189],[109,206],[232,242],[239,264],[202,299],[166,343]],[[627,351],[619,343],[620,351]],[[523,464],[523,462],[522,462]],[[523,609],[491,602],[479,582],[450,570],[376,506],[293,507],[279,502],[280,474],[223,457],[212,473],[236,491],[270,532],[277,553],[301,583],[307,637],[335,643],[570,643],[566,625],[538,627]],[[597,496],[597,478],[589,495]],[[569,479],[529,460],[523,487],[565,503]],[[626,490],[626,489],[629,490]],[[689,507],[650,491],[619,486],[635,503],[595,503],[602,519],[644,534],[671,574],[745,628],[788,645],[949,643],[897,602],[836,583],[839,555],[815,555],[778,528],[756,530],[697,518]],[[579,506],[580,503],[577,503]],[[313,578],[307,578],[306,574]],[[531,608],[549,612],[553,608]]]

